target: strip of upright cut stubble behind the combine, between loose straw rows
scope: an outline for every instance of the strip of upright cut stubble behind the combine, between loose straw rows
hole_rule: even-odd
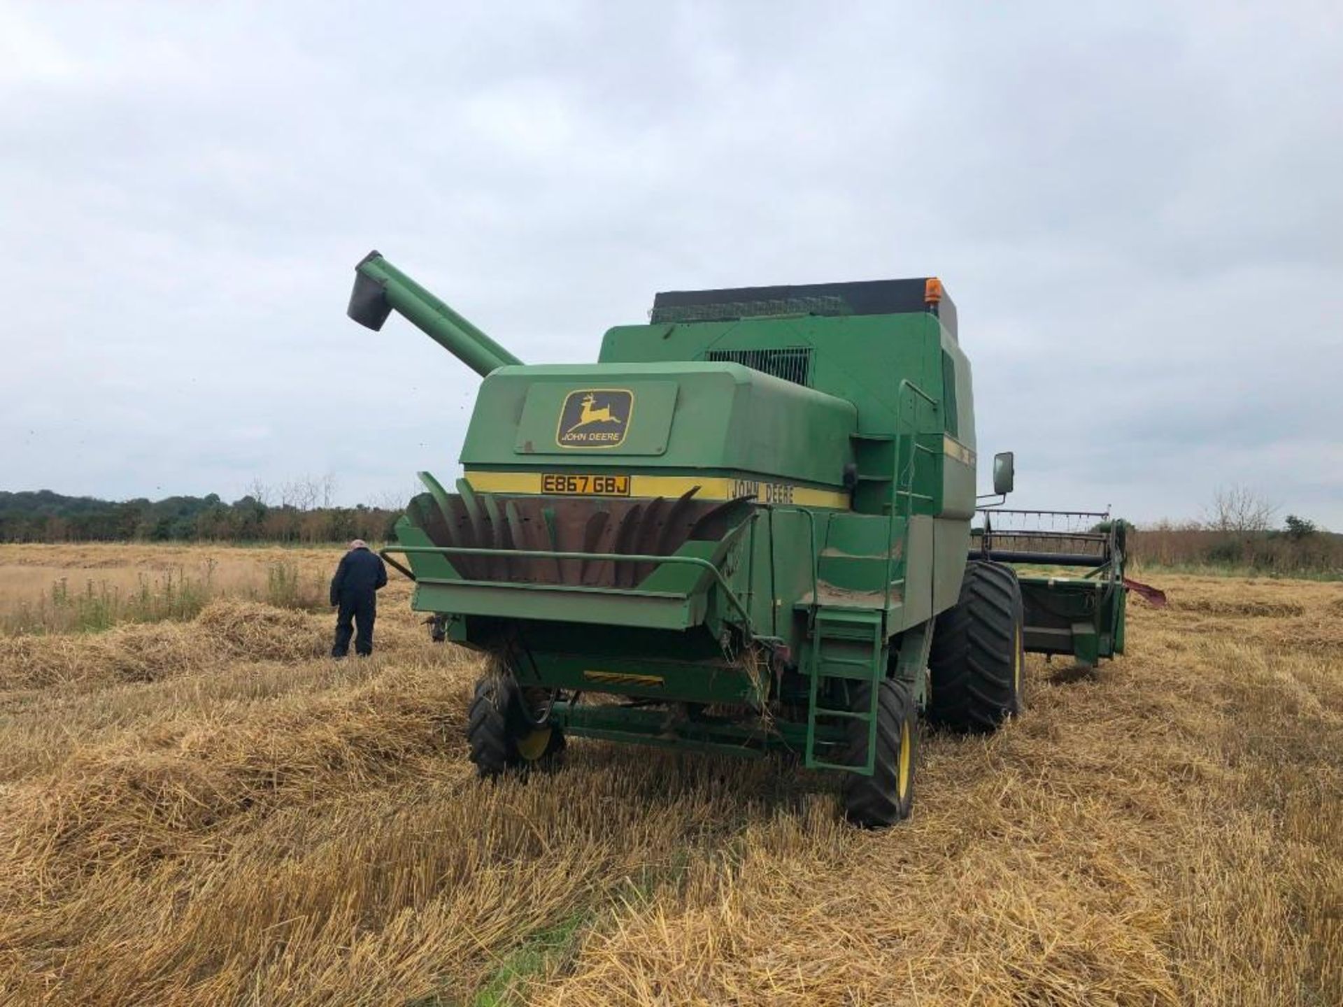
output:
[[[494,986],[513,1002],[494,977],[524,960],[514,948],[565,947],[768,814],[760,767],[592,755],[575,765],[587,800],[543,781],[481,785],[454,759],[395,789],[278,811],[189,862],[109,866],[0,932],[24,948],[0,992],[320,1007],[471,1003]],[[838,828],[829,802],[811,818]]]

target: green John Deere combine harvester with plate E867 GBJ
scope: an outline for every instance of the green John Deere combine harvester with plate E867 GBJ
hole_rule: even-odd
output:
[[[371,252],[349,317],[393,310],[483,377],[455,491],[420,473],[383,553],[438,638],[492,658],[482,776],[569,734],[788,751],[885,826],[920,714],[992,730],[1023,651],[1123,651],[1120,522],[972,536],[970,361],[936,278],[661,293],[583,365],[524,364]],[[1001,504],[1011,454],[992,482]]]

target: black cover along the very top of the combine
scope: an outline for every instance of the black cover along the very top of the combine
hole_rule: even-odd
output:
[[[929,301],[929,281],[939,299]],[[956,305],[932,277],[865,279],[849,283],[798,283],[721,290],[663,290],[653,297],[651,321],[723,322],[771,314],[936,314],[954,337]]]

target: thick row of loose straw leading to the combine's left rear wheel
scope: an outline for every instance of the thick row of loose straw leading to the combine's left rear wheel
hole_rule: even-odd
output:
[[[337,697],[291,698],[250,724],[75,749],[7,795],[0,849],[15,851],[7,870],[27,882],[9,894],[47,900],[109,866],[207,850],[239,815],[410,772],[416,759],[462,747],[462,691],[426,665]]]

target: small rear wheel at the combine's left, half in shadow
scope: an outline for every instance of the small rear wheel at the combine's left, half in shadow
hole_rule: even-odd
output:
[[[506,675],[486,675],[475,683],[466,740],[481,779],[533,767],[553,769],[564,752],[564,733],[539,722],[522,689]]]

